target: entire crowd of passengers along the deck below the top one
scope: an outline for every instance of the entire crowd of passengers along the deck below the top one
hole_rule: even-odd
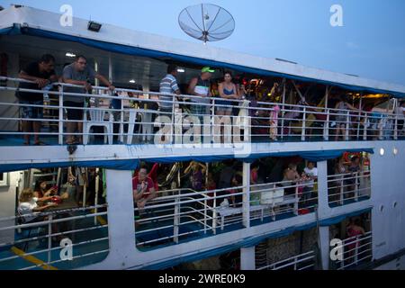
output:
[[[354,155],[347,159],[339,157],[329,161],[329,175],[337,175],[336,183],[345,185],[345,198],[350,197],[358,184],[354,176],[365,172],[368,158]],[[146,206],[159,196],[168,195],[171,189],[180,189],[182,193],[208,191],[211,199],[208,204],[213,207],[227,205],[240,207],[242,205],[242,163],[237,160],[202,164],[196,161],[175,163],[173,166],[164,164],[142,163],[134,171],[132,189],[136,217],[140,217]],[[42,170],[47,173],[49,171]],[[179,175],[179,178],[177,176]],[[339,175],[343,176],[343,182]],[[18,213],[25,222],[45,220],[46,216],[38,215],[40,211],[58,210],[60,203],[69,203],[70,208],[92,206],[95,203],[105,203],[106,188],[103,179],[103,169],[94,167],[84,168],[72,166],[63,169],[60,183],[50,178],[39,178],[33,186],[19,194]],[[98,184],[97,184],[98,179]],[[178,180],[179,179],[179,180]],[[178,182],[180,181],[180,182]],[[260,203],[261,193],[259,184],[276,184],[284,189],[284,195],[295,195],[302,202],[300,208],[311,207],[317,203],[318,169],[315,162],[304,161],[301,157],[269,157],[262,158],[251,164],[250,169],[251,198],[250,204]],[[63,184],[62,184],[63,183]],[[98,185],[98,189],[96,186]],[[215,190],[220,190],[214,193]],[[340,187],[335,186],[339,191]],[[96,193],[98,191],[98,193]],[[332,191],[331,193],[334,193]],[[85,199],[84,199],[85,193]],[[330,192],[329,192],[330,193]],[[97,199],[95,195],[97,194]],[[332,199],[333,200],[333,199]],[[62,208],[61,208],[62,209]],[[54,228],[58,230],[58,227]]]

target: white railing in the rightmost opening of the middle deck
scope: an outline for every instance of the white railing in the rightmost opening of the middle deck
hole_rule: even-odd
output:
[[[344,205],[369,199],[371,178],[369,172],[345,173],[328,176],[329,204]]]

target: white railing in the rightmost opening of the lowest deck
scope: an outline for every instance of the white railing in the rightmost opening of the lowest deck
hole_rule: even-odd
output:
[[[342,253],[337,257],[335,266],[338,270],[344,270],[348,267],[355,267],[360,264],[371,262],[373,260],[373,235],[372,232],[366,232],[365,235],[357,235],[346,238],[342,241]]]

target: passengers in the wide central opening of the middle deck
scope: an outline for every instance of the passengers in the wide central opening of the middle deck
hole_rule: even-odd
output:
[[[162,164],[150,165],[143,163],[139,170],[136,170],[132,178],[133,198],[136,207],[142,211],[147,202],[155,199],[159,189],[170,189],[175,183],[176,188],[180,188],[182,193],[194,193],[208,191],[207,195],[214,197],[208,204],[219,207],[229,205],[230,207],[240,207],[242,205],[243,178],[241,163],[236,160],[226,160],[221,163],[211,164],[209,167],[196,161],[191,161],[187,166],[179,168],[181,174],[181,184],[175,180],[170,181],[173,171],[166,171],[167,166]],[[167,180],[169,179],[169,180]],[[316,183],[318,179],[318,169],[314,162],[305,161],[300,157],[293,158],[273,158],[259,160],[251,165],[250,185],[252,191],[255,185],[279,182],[280,187],[284,187],[285,195],[299,193],[302,200],[316,198]],[[168,181],[168,182],[167,182]],[[220,190],[214,194],[213,191]],[[259,190],[259,189],[257,189]],[[164,193],[166,193],[164,191]],[[260,202],[260,193],[251,195],[251,204]]]

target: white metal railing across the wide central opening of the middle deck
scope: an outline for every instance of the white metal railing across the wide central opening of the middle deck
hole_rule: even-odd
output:
[[[134,209],[140,213],[135,220],[137,246],[178,243],[191,236],[204,237],[260,225],[265,218],[277,220],[284,213],[295,217],[312,212],[318,203],[318,193],[313,188],[303,189],[305,185],[308,183],[285,181],[251,185],[247,202],[243,202],[248,193],[243,185],[202,192],[161,191],[144,208]]]

